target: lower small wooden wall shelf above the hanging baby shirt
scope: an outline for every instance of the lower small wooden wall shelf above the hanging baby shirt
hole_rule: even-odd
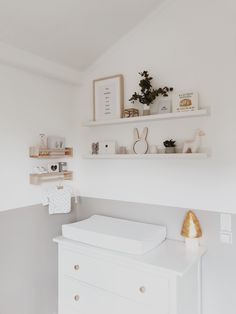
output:
[[[73,172],[47,172],[47,173],[31,173],[30,174],[30,184],[39,185],[42,182],[50,180],[72,180]]]

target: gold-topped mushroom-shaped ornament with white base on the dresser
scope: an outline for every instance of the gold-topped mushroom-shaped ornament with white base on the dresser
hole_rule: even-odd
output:
[[[181,235],[185,238],[185,245],[188,249],[197,249],[199,238],[202,236],[200,222],[195,213],[189,210],[184,218]]]

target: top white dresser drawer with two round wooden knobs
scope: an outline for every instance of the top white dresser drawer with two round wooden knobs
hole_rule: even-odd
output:
[[[59,254],[60,274],[141,304],[158,306],[160,313],[168,313],[168,278],[66,249],[61,249]]]

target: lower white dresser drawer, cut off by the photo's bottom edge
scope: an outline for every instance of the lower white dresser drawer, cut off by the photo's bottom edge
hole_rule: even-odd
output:
[[[59,290],[59,314],[156,314],[151,306],[138,304],[105,290],[62,277]],[[159,312],[158,314],[165,314]]]

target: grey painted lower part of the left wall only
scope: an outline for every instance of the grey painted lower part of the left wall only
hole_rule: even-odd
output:
[[[57,313],[57,246],[61,225],[77,211],[48,215],[40,205],[0,213],[0,314]]]

